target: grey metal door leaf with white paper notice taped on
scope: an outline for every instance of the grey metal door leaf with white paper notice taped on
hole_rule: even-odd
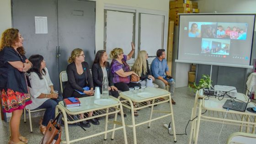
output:
[[[35,16],[47,16],[48,33],[35,33]],[[54,89],[59,90],[57,0],[12,0],[12,22],[24,37],[27,58],[43,55]]]

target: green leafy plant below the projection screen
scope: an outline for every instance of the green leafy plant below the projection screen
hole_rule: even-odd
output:
[[[203,88],[210,89],[210,87],[212,86],[212,82],[213,81],[210,79],[209,75],[202,75],[202,78],[199,80],[198,85],[194,82],[194,92]],[[190,87],[190,90],[192,91],[192,87],[190,85],[188,85],[188,87]]]

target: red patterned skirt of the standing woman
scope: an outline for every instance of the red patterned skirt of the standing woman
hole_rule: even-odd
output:
[[[11,89],[3,89],[1,91],[2,108],[3,112],[13,112],[15,110],[21,110],[27,105],[32,103],[29,94],[24,94]]]

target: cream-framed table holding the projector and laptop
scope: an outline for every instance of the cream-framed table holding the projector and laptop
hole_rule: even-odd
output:
[[[197,100],[199,101],[198,106],[198,113],[197,111]],[[242,93],[237,93],[236,96],[237,99],[247,102],[248,96],[245,96]],[[198,133],[199,133],[199,127],[200,127],[200,121],[208,121],[208,122],[214,122],[214,123],[224,123],[225,124],[232,124],[240,126],[240,132],[243,130],[243,127],[245,126],[246,133],[249,133],[249,128],[251,127],[251,133],[255,133],[256,128],[256,113],[248,112],[247,110],[245,112],[239,112],[234,110],[227,110],[223,108],[223,105],[226,100],[230,99],[229,97],[224,97],[223,100],[219,100],[218,96],[204,96],[203,90],[197,91],[196,97],[195,97],[195,105],[192,110],[192,117],[196,117],[196,113],[198,114],[198,117],[192,121],[191,125],[191,131],[190,131],[190,139],[189,144],[192,142],[192,135],[194,139],[194,144],[197,144],[198,139]],[[255,107],[256,104],[253,102],[248,103],[247,107]],[[201,114],[202,112],[206,113]],[[227,116],[224,120],[225,114],[227,112]]]

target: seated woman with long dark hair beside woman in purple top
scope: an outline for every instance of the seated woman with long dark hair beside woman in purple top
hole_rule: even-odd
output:
[[[108,79],[108,91],[109,95],[118,97],[118,90],[117,87],[114,86],[113,83],[113,76],[112,73],[110,72],[110,64],[107,62],[107,52],[105,50],[99,50],[96,53],[92,68],[91,68],[91,73],[92,73],[92,79],[93,79],[93,84],[94,86],[100,87],[100,91],[102,93],[102,81],[105,76],[107,76]]]

